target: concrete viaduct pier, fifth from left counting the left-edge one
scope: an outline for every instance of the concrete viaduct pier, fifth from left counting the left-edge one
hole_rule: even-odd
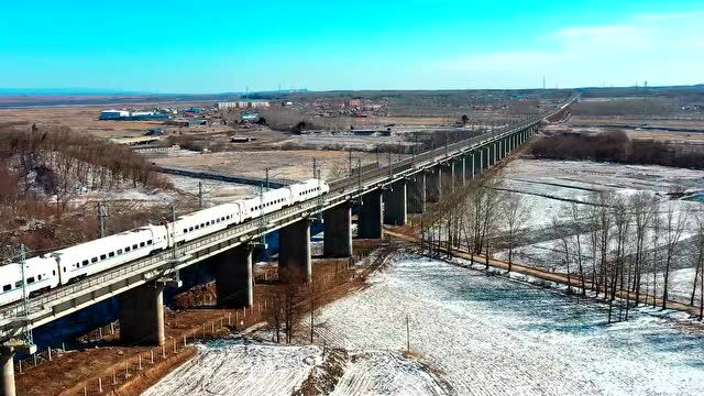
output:
[[[352,205],[344,202],[322,213],[322,254],[326,257],[352,255]]]

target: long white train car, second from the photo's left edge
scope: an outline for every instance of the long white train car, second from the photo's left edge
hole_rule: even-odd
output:
[[[168,248],[166,227],[145,226],[51,253],[62,285]]]

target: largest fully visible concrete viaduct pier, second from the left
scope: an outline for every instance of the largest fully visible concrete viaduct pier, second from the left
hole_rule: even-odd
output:
[[[164,284],[152,280],[120,295],[120,340],[161,345],[164,333]]]

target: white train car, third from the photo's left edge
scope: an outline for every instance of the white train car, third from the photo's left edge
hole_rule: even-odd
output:
[[[241,207],[241,202],[232,202],[184,215],[168,224],[169,235],[175,243],[183,243],[224,230],[242,222]]]

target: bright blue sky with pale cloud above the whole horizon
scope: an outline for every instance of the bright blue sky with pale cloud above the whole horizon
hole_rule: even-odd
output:
[[[704,2],[8,1],[0,88],[222,92],[704,82]]]

